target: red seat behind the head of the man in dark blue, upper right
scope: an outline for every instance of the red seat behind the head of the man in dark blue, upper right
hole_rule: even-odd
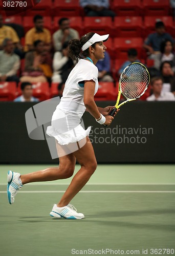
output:
[[[164,23],[166,32],[170,33],[172,36],[175,35],[173,18],[171,16],[145,16],[143,22],[144,37],[152,32],[155,32],[155,23],[160,20]]]

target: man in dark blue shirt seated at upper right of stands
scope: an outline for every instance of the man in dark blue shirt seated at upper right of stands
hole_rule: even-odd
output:
[[[160,53],[160,45],[162,41],[168,39],[172,42],[172,44],[174,44],[172,36],[165,32],[165,26],[163,22],[156,22],[155,30],[156,32],[148,35],[143,45],[149,54],[149,58],[151,59],[155,59],[155,55]]]

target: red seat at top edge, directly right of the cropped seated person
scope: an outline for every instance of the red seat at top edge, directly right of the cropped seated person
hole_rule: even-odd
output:
[[[142,10],[141,0],[114,0],[112,9],[117,16],[140,16]]]

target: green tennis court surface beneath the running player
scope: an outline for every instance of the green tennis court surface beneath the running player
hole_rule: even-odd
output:
[[[174,165],[98,165],[71,202],[83,220],[49,216],[71,178],[24,185],[8,203],[9,169],[47,167],[0,165],[1,256],[175,255]]]

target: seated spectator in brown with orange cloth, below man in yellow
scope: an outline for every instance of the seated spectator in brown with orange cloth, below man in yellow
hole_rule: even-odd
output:
[[[47,82],[52,77],[52,58],[41,40],[34,41],[34,51],[26,53],[21,82]]]

